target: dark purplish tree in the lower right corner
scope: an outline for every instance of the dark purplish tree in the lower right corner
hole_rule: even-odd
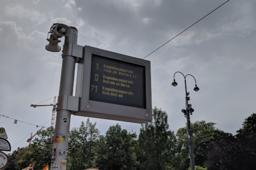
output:
[[[255,170],[256,134],[238,134],[216,142],[208,153],[208,170]]]

